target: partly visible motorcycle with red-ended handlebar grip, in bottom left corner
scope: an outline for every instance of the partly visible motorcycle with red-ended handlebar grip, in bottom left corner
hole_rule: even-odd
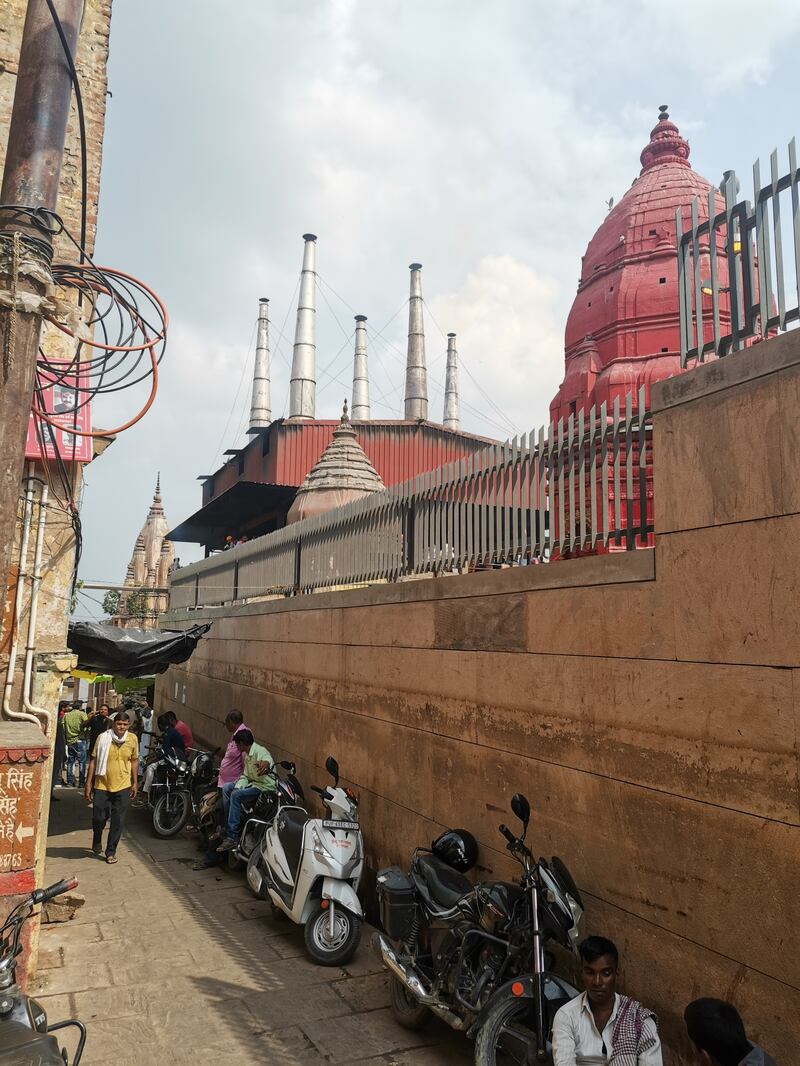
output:
[[[71,1066],[78,1066],[86,1043],[85,1025],[76,1020],[48,1024],[41,1003],[21,991],[16,983],[17,956],[21,952],[22,926],[39,903],[76,888],[75,879],[60,881],[49,888],[37,888],[12,910],[0,928],[0,1063],[7,1066],[70,1066],[66,1048],[51,1034],[74,1027],[78,1047]]]

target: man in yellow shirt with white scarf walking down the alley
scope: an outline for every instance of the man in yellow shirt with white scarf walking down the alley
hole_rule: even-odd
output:
[[[139,791],[139,741],[129,732],[125,711],[114,715],[111,729],[97,738],[86,771],[85,796],[93,803],[92,851],[102,852],[102,830],[111,820],[106,841],[106,861],[116,862],[116,845],[123,835],[125,817]]]

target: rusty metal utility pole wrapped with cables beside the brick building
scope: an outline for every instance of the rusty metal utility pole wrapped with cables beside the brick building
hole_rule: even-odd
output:
[[[54,6],[75,55],[83,0],[54,0]],[[45,0],[28,0],[0,191],[0,618],[42,332],[36,303],[51,277],[52,237],[46,221],[30,211],[55,210],[70,97],[52,15]]]

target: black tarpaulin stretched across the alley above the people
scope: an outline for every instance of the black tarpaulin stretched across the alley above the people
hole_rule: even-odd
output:
[[[210,628],[210,621],[181,630],[119,629],[96,621],[70,621],[68,643],[80,669],[145,677],[186,662]]]

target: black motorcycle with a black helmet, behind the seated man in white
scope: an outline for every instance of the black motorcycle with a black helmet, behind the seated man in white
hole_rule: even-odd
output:
[[[522,837],[505,825],[500,833],[523,866],[518,884],[471,884],[464,874],[478,845],[464,829],[443,833],[430,851],[417,849],[407,874],[399,867],[378,874],[386,935],[375,933],[372,944],[391,974],[395,1017],[420,1029],[432,1013],[477,1034],[478,1066],[546,1062],[553,1017],[577,995],[547,972],[544,942],[576,950],[580,893],[559,858],[532,858],[525,796],[514,795],[511,807]]]

